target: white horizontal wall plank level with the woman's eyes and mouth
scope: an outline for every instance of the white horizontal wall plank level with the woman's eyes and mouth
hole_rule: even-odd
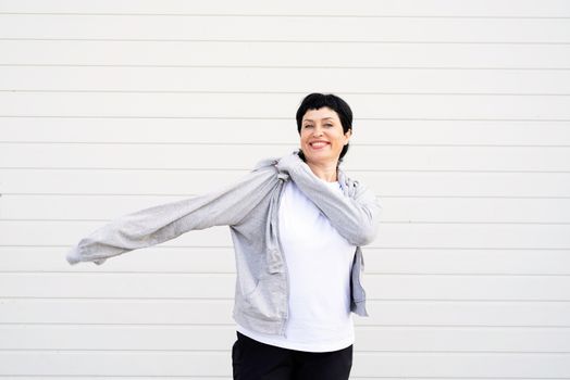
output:
[[[380,121],[357,115],[352,127],[347,159],[368,144],[570,145],[570,122]],[[293,113],[288,119],[4,117],[2,130],[0,142],[299,143]]]

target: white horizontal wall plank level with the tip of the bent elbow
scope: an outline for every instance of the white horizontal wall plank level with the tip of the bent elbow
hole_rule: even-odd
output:
[[[75,244],[101,221],[0,220],[3,245]],[[33,231],[33,233],[30,233]],[[230,246],[227,227],[213,227],[183,233],[165,246]],[[381,223],[380,233],[370,246],[438,249],[556,249],[570,248],[570,225],[519,224],[389,224]],[[132,254],[129,258],[136,259]]]

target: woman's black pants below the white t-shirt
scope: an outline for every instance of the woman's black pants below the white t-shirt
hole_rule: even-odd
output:
[[[275,347],[241,333],[232,349],[234,380],[347,380],[352,346],[313,353]]]

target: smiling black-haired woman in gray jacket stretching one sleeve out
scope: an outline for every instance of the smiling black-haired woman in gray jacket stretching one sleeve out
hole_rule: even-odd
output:
[[[236,183],[126,215],[67,261],[107,258],[212,226],[230,226],[236,257],[234,379],[348,379],[350,312],[365,316],[361,245],[376,233],[375,195],[338,164],[352,112],[311,93],[297,111],[300,150],[267,160]]]

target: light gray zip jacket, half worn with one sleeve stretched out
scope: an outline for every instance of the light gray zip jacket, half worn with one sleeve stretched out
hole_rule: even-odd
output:
[[[162,243],[212,226],[230,226],[236,251],[234,319],[253,331],[284,334],[288,276],[278,238],[278,205],[284,182],[293,180],[351,244],[358,246],[351,269],[351,311],[365,316],[360,245],[377,229],[380,205],[372,192],[339,170],[343,189],[333,191],[297,154],[263,161],[236,183],[205,195],[142,210],[96,230],[79,241],[70,264],[95,262]]]

